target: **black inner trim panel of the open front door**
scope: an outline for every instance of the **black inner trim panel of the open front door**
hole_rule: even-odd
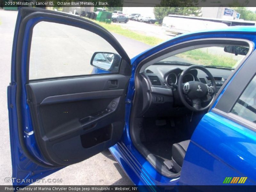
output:
[[[28,83],[36,141],[44,158],[64,166],[113,146],[124,128],[129,78],[117,74]]]

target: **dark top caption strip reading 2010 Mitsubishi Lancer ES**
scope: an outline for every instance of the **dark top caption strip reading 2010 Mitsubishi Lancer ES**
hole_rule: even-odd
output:
[[[1,2],[1,1],[0,1]],[[256,7],[255,0],[2,0],[3,7]]]

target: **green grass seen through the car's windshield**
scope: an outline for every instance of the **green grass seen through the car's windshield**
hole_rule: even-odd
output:
[[[204,52],[199,49],[180,53],[176,56],[191,60],[192,62],[200,65],[219,65],[219,66],[225,66],[225,67],[226,66],[234,67],[237,63],[237,60],[231,57],[217,55],[217,54],[215,55],[208,52]]]

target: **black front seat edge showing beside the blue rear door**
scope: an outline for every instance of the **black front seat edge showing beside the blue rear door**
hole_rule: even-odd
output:
[[[172,163],[173,169],[176,172],[181,171],[183,160],[188,149],[188,144],[190,140],[181,141],[179,143],[174,143],[172,145]]]

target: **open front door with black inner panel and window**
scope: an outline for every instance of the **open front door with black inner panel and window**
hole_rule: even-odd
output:
[[[94,52],[102,52],[100,59],[92,59]],[[95,70],[93,62],[106,66]],[[8,86],[12,176],[20,179],[13,185],[120,140],[130,75],[128,55],[104,28],[75,15],[20,8]]]

